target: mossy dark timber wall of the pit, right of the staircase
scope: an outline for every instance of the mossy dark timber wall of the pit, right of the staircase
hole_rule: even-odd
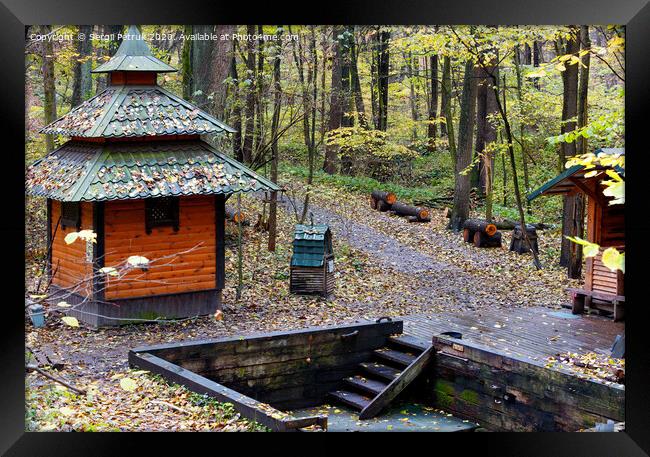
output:
[[[545,368],[475,343],[433,337],[436,408],[494,431],[577,431],[624,420],[625,387]]]

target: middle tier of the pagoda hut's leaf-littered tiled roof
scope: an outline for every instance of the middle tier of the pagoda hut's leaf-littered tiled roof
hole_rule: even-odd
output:
[[[41,133],[120,138],[234,132],[232,127],[160,86],[109,86]]]

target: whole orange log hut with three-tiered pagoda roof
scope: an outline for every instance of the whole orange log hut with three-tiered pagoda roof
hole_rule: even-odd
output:
[[[176,69],[137,27],[93,71],[107,73],[108,87],[41,130],[70,140],[26,176],[28,192],[47,199],[53,288],[93,326],[215,312],[226,200],[279,188],[201,139],[234,130],[157,84]],[[64,241],[83,229],[96,243]],[[134,255],[164,261],[119,279],[102,274]]]

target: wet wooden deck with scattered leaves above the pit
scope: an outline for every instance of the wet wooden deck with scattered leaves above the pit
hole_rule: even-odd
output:
[[[562,352],[608,354],[625,324],[594,315],[544,307],[515,308],[506,313],[413,314],[401,317],[404,333],[431,341],[433,335],[454,331],[462,339],[543,361]]]

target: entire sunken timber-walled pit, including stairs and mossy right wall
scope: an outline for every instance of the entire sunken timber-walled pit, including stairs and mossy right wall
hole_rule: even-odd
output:
[[[625,386],[402,330],[382,318],[163,344],[133,349],[129,363],[275,431],[577,431],[625,420]]]

